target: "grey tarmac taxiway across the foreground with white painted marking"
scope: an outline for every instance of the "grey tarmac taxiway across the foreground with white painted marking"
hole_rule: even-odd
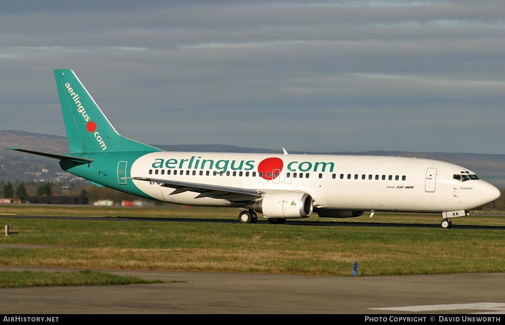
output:
[[[2,266],[3,270],[70,270]],[[0,289],[16,313],[505,313],[505,274],[322,277],[103,270],[163,284]]]

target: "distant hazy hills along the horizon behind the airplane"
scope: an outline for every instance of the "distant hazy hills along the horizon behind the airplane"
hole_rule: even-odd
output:
[[[282,148],[279,148],[279,150],[272,150],[220,144],[160,144],[154,146],[166,151],[282,153]],[[66,137],[16,130],[0,130],[0,148],[2,148],[0,149],[0,182],[17,180],[68,181],[74,177],[61,171],[57,160],[7,150],[4,149],[5,147],[19,147],[27,150],[53,153],[65,153],[69,151]],[[309,154],[309,152],[290,151],[289,148],[287,149],[289,153]],[[311,153],[314,154],[316,152]],[[480,178],[496,186],[505,186],[505,154],[378,150],[366,152],[323,152],[322,154],[405,156],[448,161],[449,163],[458,164],[474,171]]]

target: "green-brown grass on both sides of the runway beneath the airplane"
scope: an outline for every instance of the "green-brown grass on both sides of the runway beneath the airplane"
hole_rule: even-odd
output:
[[[0,213],[237,219],[236,209],[1,207]],[[38,210],[41,209],[41,210]],[[70,212],[69,212],[70,211]],[[60,214],[61,213],[61,214]],[[211,222],[111,222],[14,219],[0,244],[52,245],[2,249],[0,265],[349,276],[504,272],[501,230],[336,227]],[[260,220],[262,218],[260,217]],[[311,217],[310,221],[341,220]],[[438,224],[438,215],[379,214],[345,222]],[[502,216],[458,218],[455,225],[505,225]],[[53,247],[56,246],[56,247]]]

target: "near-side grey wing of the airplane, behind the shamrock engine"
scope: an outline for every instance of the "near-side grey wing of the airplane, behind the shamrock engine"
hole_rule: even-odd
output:
[[[156,179],[156,178],[125,177],[125,179],[153,182],[153,183],[158,183],[158,184],[160,184],[160,186],[163,186],[163,187],[174,188],[175,190],[172,193],[170,193],[170,195],[179,194],[179,193],[188,192],[188,191],[200,193],[195,196],[195,199],[202,198],[202,197],[212,197],[212,198],[216,198],[216,199],[225,199],[225,200],[235,201],[235,202],[237,202],[237,201],[254,201],[256,199],[261,198],[262,197],[261,194],[265,193],[265,192],[261,192],[258,190],[245,189],[245,188],[161,180],[161,179]]]

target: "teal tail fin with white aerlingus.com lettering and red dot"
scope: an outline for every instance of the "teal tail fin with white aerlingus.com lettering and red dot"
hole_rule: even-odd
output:
[[[161,151],[121,136],[72,70],[55,70],[55,79],[71,153]]]

